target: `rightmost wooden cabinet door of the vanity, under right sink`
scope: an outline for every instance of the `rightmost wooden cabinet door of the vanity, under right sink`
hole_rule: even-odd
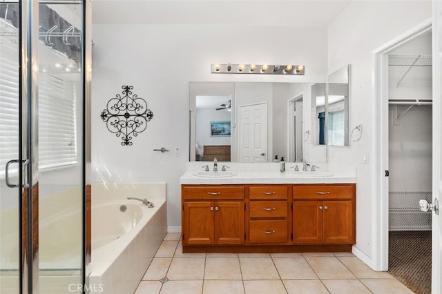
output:
[[[352,202],[324,201],[323,207],[324,243],[354,243]]]

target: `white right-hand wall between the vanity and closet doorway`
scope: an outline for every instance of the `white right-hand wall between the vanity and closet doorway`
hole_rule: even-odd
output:
[[[352,65],[350,94],[350,130],[363,125],[360,141],[350,141],[349,147],[334,146],[330,162],[357,168],[356,188],[356,248],[372,257],[371,170],[372,113],[374,105],[374,57],[372,52],[419,23],[430,19],[430,1],[352,1],[328,28],[328,69],[334,72],[346,64]],[[367,154],[369,164],[363,163]]]

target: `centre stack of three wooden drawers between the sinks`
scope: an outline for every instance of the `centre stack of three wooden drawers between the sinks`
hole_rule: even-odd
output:
[[[287,185],[249,187],[249,242],[251,244],[288,242],[287,195]]]

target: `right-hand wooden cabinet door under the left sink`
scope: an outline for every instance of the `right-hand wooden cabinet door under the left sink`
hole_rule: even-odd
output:
[[[215,243],[244,244],[244,202],[215,202]]]

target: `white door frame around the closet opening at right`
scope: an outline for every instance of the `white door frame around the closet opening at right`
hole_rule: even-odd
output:
[[[372,53],[375,96],[372,103],[372,268],[375,271],[388,270],[388,179],[385,177],[388,170],[388,54],[431,30],[432,20],[427,19]]]

